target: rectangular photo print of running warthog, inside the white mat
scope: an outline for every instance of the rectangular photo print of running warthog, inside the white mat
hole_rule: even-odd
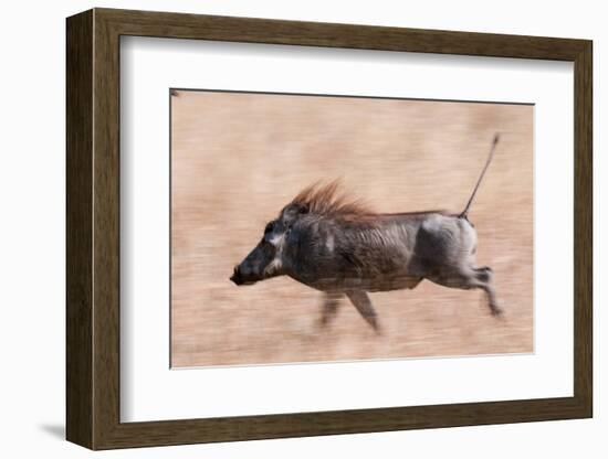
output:
[[[533,105],[170,109],[171,367],[534,351]]]

